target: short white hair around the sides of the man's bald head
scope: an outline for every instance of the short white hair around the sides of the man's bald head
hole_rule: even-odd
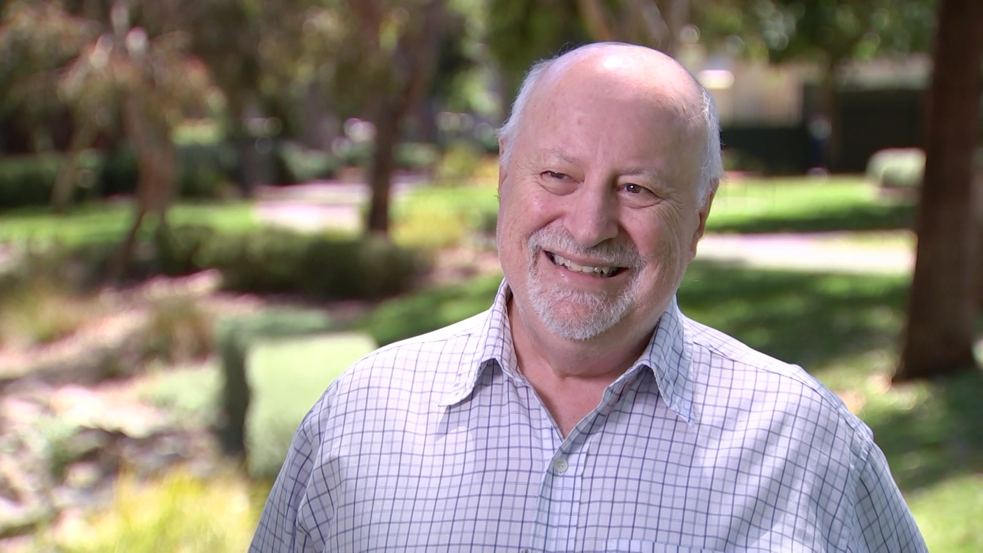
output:
[[[512,103],[512,111],[498,129],[498,139],[502,145],[499,158],[503,165],[508,164],[512,154],[512,146],[515,138],[519,134],[519,126],[522,116],[529,104],[529,98],[533,95],[533,90],[543,80],[550,68],[555,64],[569,61],[574,56],[579,56],[594,49],[600,49],[610,45],[625,45],[620,42],[596,42],[586,44],[570,50],[560,56],[543,60],[530,68],[519,87],[519,93],[515,96]],[[680,66],[681,67],[681,66]],[[686,71],[685,68],[682,68]],[[693,76],[686,71],[686,74],[693,80],[693,84],[700,91],[700,113],[699,119],[705,133],[703,141],[703,153],[700,156],[700,195],[706,200],[711,194],[717,191],[717,186],[723,179],[723,160],[721,159],[721,126],[717,116],[717,106],[714,104],[714,97],[707,92],[707,89]]]

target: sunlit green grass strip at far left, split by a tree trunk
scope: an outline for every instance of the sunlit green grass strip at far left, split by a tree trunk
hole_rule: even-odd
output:
[[[48,208],[25,208],[0,217],[0,243],[50,241],[65,246],[120,242],[133,222],[131,201],[79,206],[66,215]],[[171,224],[207,224],[221,231],[256,228],[258,219],[247,202],[183,202],[168,212]]]

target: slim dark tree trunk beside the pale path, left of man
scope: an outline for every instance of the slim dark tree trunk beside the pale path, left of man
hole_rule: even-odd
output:
[[[366,233],[387,236],[389,233],[389,196],[395,168],[396,143],[399,140],[399,114],[391,102],[382,101],[376,116],[376,149],[369,169],[372,201],[366,219]]]

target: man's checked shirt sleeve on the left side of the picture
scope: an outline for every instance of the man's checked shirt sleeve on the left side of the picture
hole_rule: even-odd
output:
[[[314,464],[313,441],[308,424],[312,412],[301,422],[294,435],[287,459],[269,491],[269,498],[253,535],[250,553],[287,553],[314,551],[311,536],[298,525],[298,514],[306,501],[308,481]]]

